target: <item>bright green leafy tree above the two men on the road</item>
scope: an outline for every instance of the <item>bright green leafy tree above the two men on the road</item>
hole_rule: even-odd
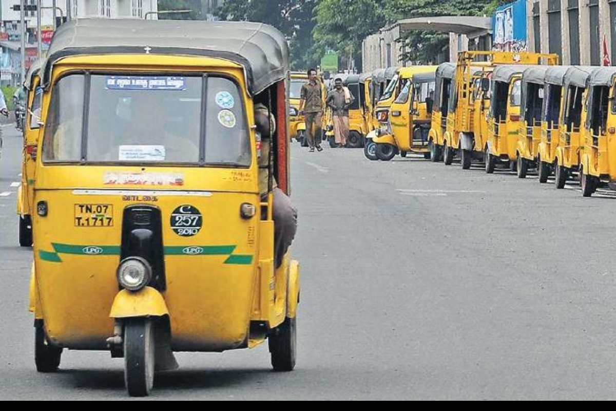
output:
[[[351,58],[361,67],[362,41],[385,25],[385,4],[386,0],[321,0],[312,31],[314,53],[337,51],[343,61]]]

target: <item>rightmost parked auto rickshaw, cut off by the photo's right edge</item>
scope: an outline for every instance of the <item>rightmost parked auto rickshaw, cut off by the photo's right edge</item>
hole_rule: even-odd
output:
[[[593,195],[601,182],[616,187],[616,67],[595,68],[587,84],[580,158],[584,197]]]

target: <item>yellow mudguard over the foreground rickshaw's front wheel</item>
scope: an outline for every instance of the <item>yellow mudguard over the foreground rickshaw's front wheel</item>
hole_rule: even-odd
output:
[[[168,315],[169,310],[164,298],[152,287],[141,291],[122,290],[116,295],[111,306],[111,318],[161,317]]]

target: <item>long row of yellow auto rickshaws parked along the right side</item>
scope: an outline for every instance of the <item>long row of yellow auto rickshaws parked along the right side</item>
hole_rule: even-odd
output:
[[[557,64],[553,54],[462,52],[457,64],[436,68],[427,138],[421,98],[408,98],[409,87],[416,87],[411,96],[423,96],[417,88],[423,76],[415,75],[387,114],[376,113],[380,136],[371,139],[375,149],[367,157],[419,152],[445,165],[459,158],[463,169],[482,162],[487,173],[506,165],[520,178],[535,168],[541,183],[554,174],[558,189],[577,173],[585,197],[600,184],[612,187],[616,68]],[[411,129],[412,140],[400,138]]]

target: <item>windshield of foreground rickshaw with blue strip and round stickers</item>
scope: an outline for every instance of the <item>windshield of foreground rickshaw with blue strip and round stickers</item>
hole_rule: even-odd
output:
[[[248,167],[243,99],[222,76],[71,74],[52,89],[43,161]]]

